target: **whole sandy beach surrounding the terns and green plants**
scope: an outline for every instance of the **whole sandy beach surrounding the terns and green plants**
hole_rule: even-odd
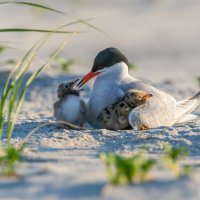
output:
[[[39,1],[35,1],[39,2]],[[56,90],[60,83],[82,77],[91,68],[96,54],[109,46],[118,47],[137,69],[131,74],[154,84],[159,89],[181,100],[199,91],[200,76],[200,2],[191,0],[125,0],[125,1],[48,1],[48,5],[65,10],[73,16],[89,18],[98,16],[93,24],[110,37],[87,28],[75,36],[62,55],[77,59],[69,73],[47,68],[30,86],[22,111],[16,122],[12,142],[21,141],[35,127],[51,122]],[[66,7],[66,8],[65,8]],[[97,9],[98,8],[98,9]],[[19,12],[33,12],[26,19]],[[97,12],[98,11],[98,12]],[[16,14],[14,20],[10,13]],[[2,27],[33,26],[55,27],[63,18],[45,15],[27,8],[14,9],[5,5],[0,12]],[[7,19],[7,20],[2,20]],[[52,20],[53,19],[53,20]],[[15,44],[26,51],[40,34],[1,33],[2,41]],[[19,37],[20,36],[20,37]],[[40,60],[46,59],[63,36],[55,37],[39,54],[32,70]],[[20,57],[22,52],[8,51],[4,57]],[[0,91],[7,68],[0,69]],[[82,98],[87,101],[92,81],[85,86]],[[200,107],[195,114],[200,115]],[[6,136],[3,137],[3,142]],[[183,164],[191,164],[194,173],[189,178],[176,180],[168,172],[157,169],[157,179],[151,183],[111,187],[105,166],[99,158],[103,152],[131,155],[148,146],[151,156],[159,157],[164,144],[187,147],[190,156]],[[67,130],[49,125],[41,128],[29,140],[23,162],[17,168],[21,178],[0,178],[0,199],[200,199],[200,119],[173,127],[159,127],[146,131],[120,130]]]

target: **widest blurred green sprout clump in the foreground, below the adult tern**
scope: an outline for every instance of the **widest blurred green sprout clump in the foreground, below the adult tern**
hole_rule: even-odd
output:
[[[101,155],[101,159],[106,165],[108,178],[113,185],[150,181],[150,171],[156,164],[155,159],[144,153],[137,153],[128,158],[105,153]]]

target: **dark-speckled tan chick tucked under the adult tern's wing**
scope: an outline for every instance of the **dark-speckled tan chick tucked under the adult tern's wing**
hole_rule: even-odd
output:
[[[129,113],[132,109],[144,104],[151,96],[140,90],[129,90],[120,101],[106,107],[97,120],[101,126],[111,130],[130,128]]]

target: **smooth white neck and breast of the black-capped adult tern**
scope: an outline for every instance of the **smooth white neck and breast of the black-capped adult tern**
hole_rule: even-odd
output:
[[[128,66],[121,62],[105,68],[102,75],[96,78],[89,100],[89,113],[92,118],[96,119],[102,109],[124,96],[124,93],[119,92],[119,88],[120,82],[127,74]]]

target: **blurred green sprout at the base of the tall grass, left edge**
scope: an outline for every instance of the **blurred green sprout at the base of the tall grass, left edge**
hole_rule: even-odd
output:
[[[0,174],[4,176],[15,176],[15,168],[21,161],[24,146],[15,147],[8,145],[0,149]]]

